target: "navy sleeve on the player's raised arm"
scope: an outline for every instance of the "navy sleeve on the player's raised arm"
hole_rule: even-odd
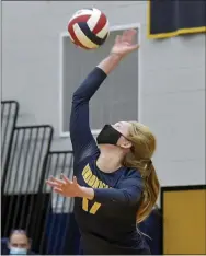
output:
[[[98,152],[98,146],[89,124],[89,101],[105,78],[104,71],[96,67],[73,93],[70,115],[70,139],[75,164]]]

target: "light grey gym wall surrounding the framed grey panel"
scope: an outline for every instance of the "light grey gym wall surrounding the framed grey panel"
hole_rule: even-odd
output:
[[[2,92],[21,103],[19,124],[50,124],[53,149],[70,149],[69,138],[59,136],[60,33],[75,11],[91,5],[106,13],[112,26],[141,25],[140,121],[158,138],[153,161],[161,185],[204,184],[205,34],[148,39],[146,1],[3,1]],[[89,57],[88,67],[93,68]]]

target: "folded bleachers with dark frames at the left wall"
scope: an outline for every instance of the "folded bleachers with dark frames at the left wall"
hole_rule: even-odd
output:
[[[68,237],[67,226],[71,218],[75,222],[72,201],[54,197],[45,179],[49,175],[72,174],[72,152],[52,151],[50,125],[18,126],[20,107],[16,101],[1,102],[1,237],[5,241],[12,229],[25,229],[32,236],[34,252],[64,254],[68,246],[64,238]],[[77,246],[72,237],[69,241],[73,254]]]

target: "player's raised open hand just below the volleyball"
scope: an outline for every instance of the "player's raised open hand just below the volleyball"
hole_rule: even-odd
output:
[[[124,57],[125,55],[137,50],[139,48],[139,45],[134,44],[136,34],[136,30],[128,30],[125,31],[123,35],[117,35],[111,54],[116,54],[121,57]]]

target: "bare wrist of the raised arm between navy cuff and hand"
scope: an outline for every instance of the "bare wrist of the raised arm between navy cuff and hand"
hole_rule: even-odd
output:
[[[107,58],[102,60],[98,67],[102,69],[106,74],[111,73],[121,62],[122,56],[117,54],[111,54]]]

